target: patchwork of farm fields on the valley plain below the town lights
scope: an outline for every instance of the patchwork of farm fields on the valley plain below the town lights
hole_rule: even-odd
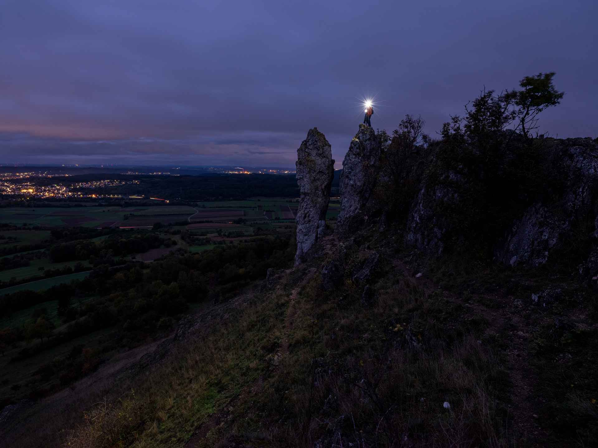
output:
[[[338,204],[336,204],[338,208]],[[188,248],[191,252],[209,250],[216,244],[239,243],[248,238],[280,232],[288,234],[295,228],[295,215],[298,202],[285,198],[255,198],[243,201],[215,201],[199,202],[197,207],[187,205],[132,205],[130,207],[117,206],[82,206],[82,207],[14,207],[0,210],[0,223],[10,223],[16,226],[42,226],[68,228],[81,226],[88,228],[141,228],[149,229],[154,223],[188,223],[178,225],[172,229],[185,229],[190,238],[185,242],[178,238],[176,247]],[[338,214],[335,204],[331,204],[329,216]],[[257,229],[260,229],[259,231]],[[17,230],[0,232],[1,247],[14,247],[19,244],[37,244],[50,240],[50,231]],[[10,238],[9,238],[10,237]],[[209,240],[201,240],[201,238]],[[103,235],[91,239],[99,242],[108,238]],[[208,244],[205,244],[209,241]],[[172,248],[155,248],[149,253],[138,254],[138,259],[151,261]],[[23,252],[25,253],[25,252]],[[12,255],[10,255],[12,256]],[[39,277],[44,270],[74,267],[77,262],[51,263],[49,259],[30,260],[29,266],[0,271],[0,281],[27,281],[29,278]],[[90,267],[89,263],[83,263]],[[43,269],[41,269],[43,268]],[[90,267],[91,269],[91,267]],[[48,278],[25,285],[14,286],[0,291],[0,294],[16,290],[47,289],[54,284],[68,282],[75,278],[83,278],[87,274],[69,274]]]

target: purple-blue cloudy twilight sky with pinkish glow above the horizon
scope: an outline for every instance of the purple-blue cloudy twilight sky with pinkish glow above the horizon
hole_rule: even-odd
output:
[[[362,121],[435,134],[484,88],[556,71],[559,137],[597,137],[596,0],[0,0],[0,163],[340,168]],[[356,107],[357,106],[357,107]]]

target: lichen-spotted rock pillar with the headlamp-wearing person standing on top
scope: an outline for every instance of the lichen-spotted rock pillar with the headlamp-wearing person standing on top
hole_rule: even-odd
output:
[[[368,202],[380,173],[382,145],[373,128],[359,125],[343,160],[336,231],[346,236],[368,223]]]

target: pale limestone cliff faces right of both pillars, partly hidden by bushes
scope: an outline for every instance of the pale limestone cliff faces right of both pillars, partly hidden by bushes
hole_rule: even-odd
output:
[[[591,139],[551,139],[541,147],[541,157],[550,161],[562,185],[558,197],[533,200],[513,216],[502,230],[503,236],[493,244],[495,259],[511,266],[542,265],[552,253],[568,244],[569,238],[575,238],[575,234],[598,243],[598,145]],[[470,207],[471,213],[483,210],[479,207],[483,198],[471,202],[470,182],[474,176],[465,168],[460,167],[460,173],[439,169],[435,159],[431,166],[436,177],[432,180],[425,177],[420,184],[408,213],[404,240],[419,250],[439,256],[449,241],[453,247],[467,247],[470,235],[466,225],[454,219],[451,213],[458,210],[463,216]],[[469,198],[463,197],[464,191],[469,192]],[[532,192],[521,191],[520,194],[526,197]],[[477,222],[483,225],[484,216],[479,218]],[[595,259],[593,253],[579,267],[584,277],[598,274]]]

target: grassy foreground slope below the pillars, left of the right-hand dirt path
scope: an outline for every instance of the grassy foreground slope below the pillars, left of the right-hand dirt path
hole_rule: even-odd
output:
[[[483,320],[463,321],[454,303],[392,271],[378,289],[363,306],[352,281],[322,294],[316,269],[288,271],[134,394],[96,408],[72,446],[370,446],[402,434],[502,446],[504,373],[492,346],[477,342]]]

